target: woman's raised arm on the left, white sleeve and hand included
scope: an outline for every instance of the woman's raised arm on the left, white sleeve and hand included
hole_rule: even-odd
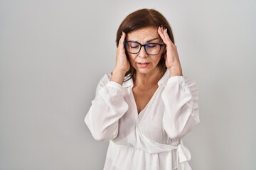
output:
[[[85,117],[85,123],[95,140],[113,140],[118,134],[118,121],[127,112],[128,105],[122,94],[124,74],[130,64],[124,50],[125,33],[119,40],[114,70],[97,86],[96,98]]]

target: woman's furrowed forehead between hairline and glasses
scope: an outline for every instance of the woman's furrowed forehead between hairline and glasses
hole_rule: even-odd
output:
[[[156,27],[140,28],[127,34],[127,40],[146,41],[152,38],[159,38]]]

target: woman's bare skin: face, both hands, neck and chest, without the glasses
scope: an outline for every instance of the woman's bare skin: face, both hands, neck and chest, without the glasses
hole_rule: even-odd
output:
[[[129,54],[129,61],[125,54],[124,39],[133,40],[146,44],[149,42],[164,42],[166,47],[162,47],[159,55],[148,55],[144,47],[137,54]],[[139,30],[134,30],[127,35],[122,33],[117,47],[117,57],[114,70],[112,72],[111,81],[118,84],[123,83],[124,74],[129,70],[132,65],[136,70],[133,77],[134,86],[132,88],[135,102],[137,104],[138,113],[144,109],[149,103],[151,97],[154,95],[158,88],[157,82],[164,75],[157,64],[161,59],[161,55],[166,50],[164,58],[166,59],[166,67],[169,69],[169,76],[182,76],[181,63],[178,58],[177,47],[171,42],[167,30],[164,28],[146,27]]]

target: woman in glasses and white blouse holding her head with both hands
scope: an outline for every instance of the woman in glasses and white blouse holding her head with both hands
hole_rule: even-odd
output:
[[[166,18],[153,9],[129,14],[117,30],[113,72],[85,117],[95,140],[110,140],[104,169],[191,169],[181,138],[199,123],[197,102]]]

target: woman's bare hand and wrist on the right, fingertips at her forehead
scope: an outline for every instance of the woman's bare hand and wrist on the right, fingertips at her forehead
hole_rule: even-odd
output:
[[[163,27],[158,28],[158,33],[161,39],[166,44],[166,52],[164,58],[166,60],[166,67],[169,69],[170,77],[182,76],[181,62],[178,58],[178,51],[176,45],[171,41],[167,33],[167,29]]]

